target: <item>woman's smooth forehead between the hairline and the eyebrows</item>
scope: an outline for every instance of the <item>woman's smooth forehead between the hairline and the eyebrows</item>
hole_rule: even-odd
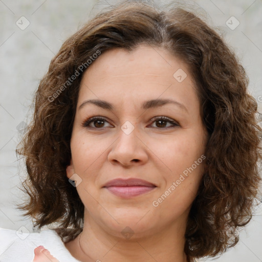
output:
[[[123,103],[171,97],[192,105],[190,100],[197,99],[187,65],[164,48],[141,45],[105,51],[92,62],[83,74],[78,104],[88,98]]]

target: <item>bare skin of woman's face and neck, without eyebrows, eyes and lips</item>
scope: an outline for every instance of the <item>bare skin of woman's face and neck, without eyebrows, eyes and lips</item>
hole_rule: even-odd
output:
[[[182,82],[173,77],[178,69],[187,74]],[[110,102],[114,110],[92,103],[79,110],[88,99]],[[142,109],[142,103],[151,99],[176,100],[186,110],[171,103]],[[105,121],[82,126],[94,116]],[[161,116],[179,126],[161,125],[153,119]],[[129,135],[121,129],[126,121],[134,126]],[[147,45],[132,52],[114,49],[102,53],[80,84],[67,177],[77,181],[85,207],[84,227],[65,247],[80,261],[185,262],[186,222],[204,161],[158,207],[152,202],[204,154],[206,143],[200,102],[183,61],[163,48]],[[103,188],[115,178],[140,178],[157,187],[123,199]],[[121,233],[126,227],[134,233],[131,237]]]

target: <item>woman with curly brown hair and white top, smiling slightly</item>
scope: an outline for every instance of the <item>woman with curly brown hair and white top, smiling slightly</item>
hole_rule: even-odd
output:
[[[34,261],[107,262],[194,261],[234,246],[262,158],[247,85],[191,12],[123,2],[96,16],[51,61],[17,149],[29,175],[20,208],[54,230],[24,242],[2,230],[9,245],[34,247]]]

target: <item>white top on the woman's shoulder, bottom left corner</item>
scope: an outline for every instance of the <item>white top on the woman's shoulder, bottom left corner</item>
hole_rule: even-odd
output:
[[[28,233],[25,230],[0,228],[0,262],[32,262],[34,249],[43,246],[61,262],[79,262],[64,246],[58,234],[51,229]],[[26,231],[26,232],[23,232]]]

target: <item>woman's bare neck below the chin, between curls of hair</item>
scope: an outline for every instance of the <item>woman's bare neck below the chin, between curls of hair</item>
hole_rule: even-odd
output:
[[[88,218],[84,220],[83,231],[72,242],[65,244],[80,261],[188,261],[184,253],[183,223],[174,223],[144,236],[134,233],[125,238],[122,234],[107,232],[92,217],[86,214],[85,217]]]

